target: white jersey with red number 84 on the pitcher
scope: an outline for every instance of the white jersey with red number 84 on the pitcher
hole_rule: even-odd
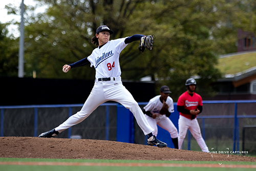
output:
[[[91,62],[91,67],[94,66],[96,70],[96,79],[119,77],[121,75],[119,54],[127,46],[124,43],[125,38],[110,40],[101,48],[94,49],[92,54],[87,57]]]

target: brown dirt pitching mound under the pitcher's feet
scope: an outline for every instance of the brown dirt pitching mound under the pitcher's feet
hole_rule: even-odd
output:
[[[169,147],[90,139],[0,137],[1,158],[251,161],[255,157],[209,154]]]

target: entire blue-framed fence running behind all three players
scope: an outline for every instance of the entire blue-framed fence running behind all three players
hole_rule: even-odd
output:
[[[203,138],[207,140],[232,135],[233,151],[239,151],[240,130],[256,124],[256,100],[203,101],[203,112],[198,115]],[[139,102],[141,108],[147,102]],[[83,104],[0,106],[0,136],[34,136],[49,131],[78,112]],[[170,119],[178,129],[177,103]],[[226,131],[225,131],[226,130]],[[232,133],[230,130],[233,130]],[[86,120],[74,125],[59,138],[79,134],[84,139],[114,140],[146,144],[133,114],[119,103],[101,104]],[[170,134],[158,126],[160,140],[174,147]],[[187,133],[187,149],[191,149],[191,136]]]

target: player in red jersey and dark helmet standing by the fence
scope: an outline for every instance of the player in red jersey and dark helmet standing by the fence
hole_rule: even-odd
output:
[[[197,82],[194,78],[186,80],[187,91],[183,93],[177,102],[177,111],[180,112],[179,124],[179,149],[186,137],[187,129],[197,140],[198,145],[203,152],[209,153],[209,149],[202,137],[200,126],[197,121],[197,115],[203,110],[202,97],[195,93]]]

